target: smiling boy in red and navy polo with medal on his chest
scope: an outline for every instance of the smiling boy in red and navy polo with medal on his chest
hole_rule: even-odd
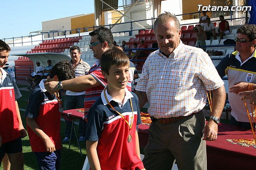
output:
[[[129,63],[119,49],[104,52],[100,59],[108,85],[88,112],[86,151],[92,169],[144,169],[136,131],[141,123],[138,97],[126,88]]]

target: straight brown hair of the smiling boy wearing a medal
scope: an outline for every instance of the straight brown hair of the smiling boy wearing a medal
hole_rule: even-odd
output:
[[[112,65],[116,66],[126,66],[130,65],[128,56],[124,51],[114,48],[105,51],[100,58],[101,70],[109,75],[109,69]]]

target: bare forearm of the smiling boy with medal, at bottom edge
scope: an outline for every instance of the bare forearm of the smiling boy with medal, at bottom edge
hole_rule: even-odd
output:
[[[100,170],[100,161],[96,150],[97,145],[98,141],[86,141],[86,154],[92,170]]]

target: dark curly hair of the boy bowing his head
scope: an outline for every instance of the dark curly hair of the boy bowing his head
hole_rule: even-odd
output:
[[[75,78],[74,67],[67,60],[61,60],[52,67],[50,78],[58,76],[59,81]]]

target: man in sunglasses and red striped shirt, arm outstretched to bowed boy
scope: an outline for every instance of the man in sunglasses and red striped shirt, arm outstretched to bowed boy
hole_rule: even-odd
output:
[[[89,47],[92,49],[93,57],[96,59],[96,63],[90,68],[89,72],[72,80],[44,84],[46,90],[50,93],[60,90],[70,90],[72,92],[86,91],[84,98],[85,113],[107,85],[107,81],[101,73],[99,60],[105,51],[113,47],[114,43],[112,32],[105,27],[100,27],[90,32],[89,35],[91,37]]]

